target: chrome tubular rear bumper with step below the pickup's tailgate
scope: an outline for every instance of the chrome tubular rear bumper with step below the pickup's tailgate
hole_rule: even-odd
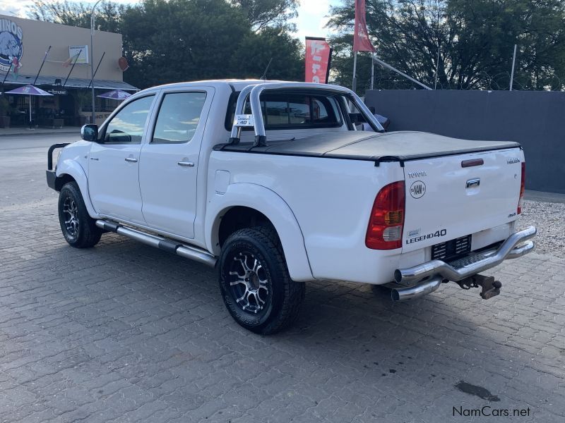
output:
[[[422,281],[429,276],[441,276],[448,281],[462,281],[482,271],[498,266],[506,259],[516,259],[533,251],[535,243],[530,240],[537,230],[534,226],[513,233],[497,249],[470,255],[453,262],[432,260],[406,269],[396,269],[394,278],[403,286]]]

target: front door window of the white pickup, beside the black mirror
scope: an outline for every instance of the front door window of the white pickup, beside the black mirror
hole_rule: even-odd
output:
[[[139,144],[149,116],[153,95],[133,100],[112,118],[106,127],[104,142],[108,144]]]

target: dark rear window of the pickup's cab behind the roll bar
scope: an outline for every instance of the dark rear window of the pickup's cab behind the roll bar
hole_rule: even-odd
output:
[[[227,106],[225,128],[232,130],[239,92],[234,92]],[[304,94],[263,94],[261,112],[266,130],[302,128],[339,128],[343,125],[334,97]],[[245,114],[251,114],[249,102]],[[251,130],[252,128],[242,128]]]

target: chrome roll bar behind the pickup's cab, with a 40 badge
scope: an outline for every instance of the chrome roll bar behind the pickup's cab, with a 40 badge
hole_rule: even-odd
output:
[[[237,97],[237,104],[235,106],[234,123],[232,126],[232,133],[230,134],[230,143],[237,144],[241,136],[242,126],[251,126],[251,124],[238,124],[238,115],[244,114],[244,107],[249,97],[251,104],[251,115],[253,116],[253,126],[255,130],[255,143],[254,146],[266,145],[266,132],[265,122],[263,121],[263,114],[261,113],[261,93],[265,90],[321,90],[330,94],[339,94],[347,98],[352,104],[357,107],[361,112],[365,121],[369,123],[375,132],[383,132],[384,128],[381,123],[377,121],[376,117],[369,111],[361,99],[352,92],[349,88],[340,87],[338,85],[327,84],[314,84],[311,82],[259,82],[252,85],[247,85]]]

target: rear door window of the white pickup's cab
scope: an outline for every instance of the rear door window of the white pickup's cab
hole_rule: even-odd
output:
[[[165,94],[151,142],[170,144],[192,140],[198,128],[204,102],[206,92]]]

